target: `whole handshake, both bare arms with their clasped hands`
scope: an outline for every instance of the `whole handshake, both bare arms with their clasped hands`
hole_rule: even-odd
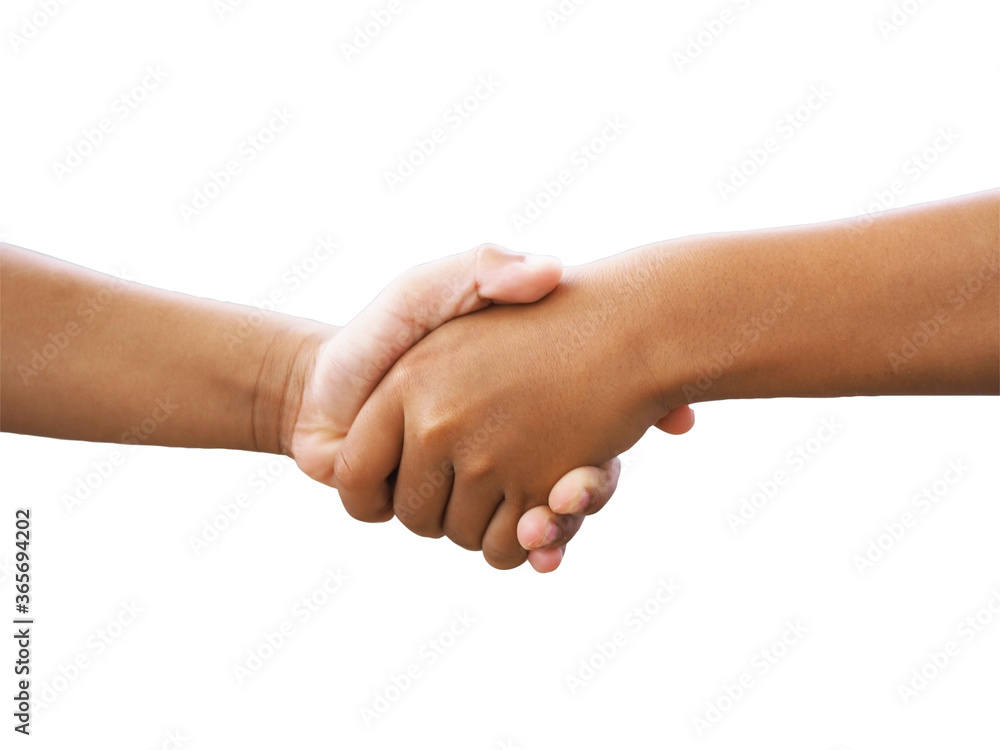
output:
[[[3,245],[0,426],[128,442],[176,404],[143,440],[284,453],[355,518],[546,572],[614,492],[616,456],[651,426],[689,430],[692,403],[997,394],[998,205],[688,237],[566,273],[482,245],[344,328]]]

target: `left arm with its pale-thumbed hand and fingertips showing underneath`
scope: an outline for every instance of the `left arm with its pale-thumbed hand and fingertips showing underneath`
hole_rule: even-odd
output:
[[[0,427],[71,440],[284,453],[337,487],[341,443],[401,354],[449,319],[494,301],[533,302],[561,274],[553,258],[483,245],[404,274],[338,328],[0,245]],[[137,428],[143,420],[155,429]],[[587,496],[592,512],[614,492],[617,474],[617,460],[575,468],[556,497]],[[391,517],[388,509],[377,520]],[[563,529],[532,552],[540,570],[558,565],[582,521],[555,518],[550,512],[538,521]],[[517,544],[514,530],[508,542]]]

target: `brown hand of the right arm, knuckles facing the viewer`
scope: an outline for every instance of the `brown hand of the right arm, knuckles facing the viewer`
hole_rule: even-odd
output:
[[[349,512],[395,512],[494,567],[521,564],[521,515],[667,414],[638,346],[641,300],[618,281],[629,272],[619,259],[578,269],[535,305],[455,320],[403,356],[341,445]]]

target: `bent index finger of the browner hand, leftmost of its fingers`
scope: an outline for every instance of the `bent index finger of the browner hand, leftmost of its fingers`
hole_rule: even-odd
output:
[[[360,521],[393,516],[389,477],[403,453],[403,407],[388,388],[364,404],[334,460],[333,484],[347,512]]]

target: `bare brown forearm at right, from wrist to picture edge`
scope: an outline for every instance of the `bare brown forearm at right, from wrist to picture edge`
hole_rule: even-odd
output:
[[[640,249],[665,403],[998,393],[998,199]]]

